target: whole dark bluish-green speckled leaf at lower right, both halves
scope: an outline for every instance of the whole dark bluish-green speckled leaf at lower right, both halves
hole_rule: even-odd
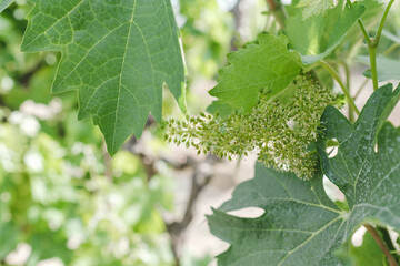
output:
[[[239,185],[232,200],[208,217],[211,232],[231,244],[218,257],[219,265],[340,265],[333,252],[361,223],[399,231],[400,129],[383,123],[399,99],[400,86],[392,92],[388,84],[372,94],[354,124],[331,106],[322,115],[327,137],[340,143],[338,155],[329,158],[327,139],[319,141],[322,170],[344,193],[350,211],[328,198],[321,173],[301,181],[258,164],[256,177]],[[258,218],[226,213],[244,207],[266,213]]]

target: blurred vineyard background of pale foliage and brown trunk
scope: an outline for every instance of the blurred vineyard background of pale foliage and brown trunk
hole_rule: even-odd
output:
[[[207,91],[227,53],[262,31],[278,32],[267,2],[172,0],[190,114],[211,103]],[[60,54],[20,52],[29,10],[17,0],[0,16],[0,265],[216,265],[213,257],[228,245],[209,233],[204,215],[252,177],[256,158],[226,162],[168,145],[151,117],[139,141],[130,139],[109,157],[99,129],[77,120],[76,93],[50,94]],[[397,60],[399,24],[391,16],[381,44]],[[352,93],[366,88],[357,100],[362,106],[371,92],[361,74],[367,51],[362,42],[354,51],[353,42],[359,39],[349,34],[336,57],[349,62]],[[330,78],[324,83],[333,86]],[[182,115],[167,90],[163,114]]]

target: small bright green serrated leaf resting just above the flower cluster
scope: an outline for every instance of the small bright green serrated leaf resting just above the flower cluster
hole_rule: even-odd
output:
[[[218,84],[210,94],[219,104],[251,110],[261,90],[276,95],[286,89],[302,69],[300,55],[288,50],[284,35],[260,34],[258,43],[228,54],[229,65],[220,70]]]

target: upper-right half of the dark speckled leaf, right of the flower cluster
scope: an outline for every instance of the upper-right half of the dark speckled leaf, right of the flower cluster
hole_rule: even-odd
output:
[[[328,106],[322,124],[327,126],[327,137],[340,143],[338,154],[329,158],[323,143],[318,145],[323,173],[346,194],[350,208],[370,206],[379,212],[382,211],[379,207],[391,211],[380,218],[387,224],[398,219],[391,214],[400,215],[397,193],[400,188],[400,130],[384,123],[400,99],[400,86],[394,92],[392,88],[389,83],[374,92],[354,124]],[[377,142],[378,152],[374,151]],[[393,201],[397,206],[392,205]],[[389,217],[392,221],[387,219]]]

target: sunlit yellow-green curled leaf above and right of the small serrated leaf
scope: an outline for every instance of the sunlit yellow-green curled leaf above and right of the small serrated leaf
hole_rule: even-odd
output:
[[[363,4],[352,7],[339,1],[327,14],[316,16],[302,21],[300,12],[287,20],[286,34],[292,49],[301,54],[303,64],[312,64],[329,55],[344,39],[351,25],[366,11]]]

